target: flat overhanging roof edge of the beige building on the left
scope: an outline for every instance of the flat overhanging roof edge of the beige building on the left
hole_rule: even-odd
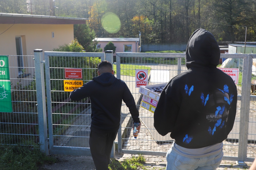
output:
[[[0,24],[86,24],[88,18],[0,13]]]

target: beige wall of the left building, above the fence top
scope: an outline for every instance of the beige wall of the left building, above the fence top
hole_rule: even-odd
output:
[[[0,24],[0,34],[0,55],[17,55],[17,36],[22,37],[23,55],[34,55],[34,49],[51,51],[59,45],[69,44],[74,38],[74,29],[73,24]]]

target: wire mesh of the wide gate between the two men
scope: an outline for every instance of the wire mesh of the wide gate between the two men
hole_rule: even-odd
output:
[[[178,73],[186,69],[185,58],[176,57],[120,57],[121,79],[124,80],[134,96],[135,102],[139,108],[140,119],[142,122],[139,136],[134,139],[132,133],[131,119],[127,119],[126,115],[122,115],[122,152],[124,153],[143,153],[149,155],[165,155],[172,146],[173,139],[169,134],[166,136],[159,135],[153,126],[154,113],[140,107],[142,94],[139,88],[136,88],[135,70],[148,71],[148,85],[167,83]],[[181,67],[178,68],[178,62]],[[123,106],[122,113],[129,113],[129,109]],[[126,119],[125,119],[126,118]],[[128,126],[127,126],[128,124]],[[123,126],[124,125],[124,126]]]

